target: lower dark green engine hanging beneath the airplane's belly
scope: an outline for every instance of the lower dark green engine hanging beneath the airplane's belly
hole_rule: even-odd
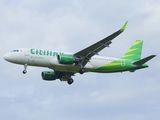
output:
[[[58,76],[55,74],[54,71],[43,71],[41,75],[42,75],[42,79],[47,81],[58,79]]]

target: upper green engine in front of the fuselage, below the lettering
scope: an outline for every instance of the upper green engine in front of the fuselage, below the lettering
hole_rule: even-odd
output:
[[[75,62],[75,57],[73,55],[58,55],[58,62],[60,64],[73,64]]]

